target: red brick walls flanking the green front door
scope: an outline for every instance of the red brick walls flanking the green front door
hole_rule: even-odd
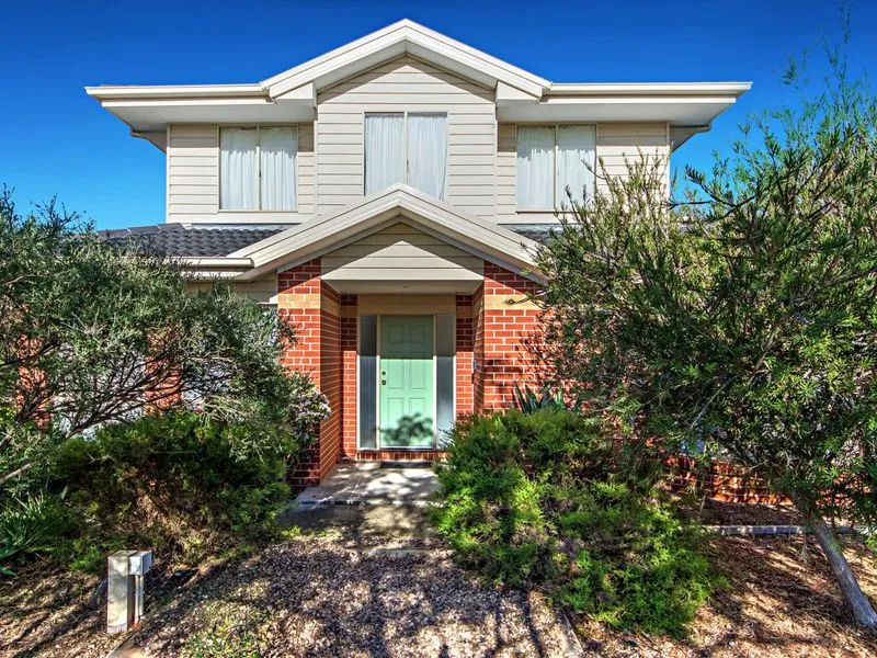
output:
[[[340,295],[320,273],[320,260],[315,259],[277,275],[278,313],[297,332],[283,364],[308,373],[331,409],[291,484],[296,488],[316,484],[341,460],[441,456],[436,451],[357,451],[357,296]],[[485,262],[485,281],[478,291],[456,296],[458,418],[509,406],[514,382],[533,378],[534,361],[527,351],[539,311],[525,297],[534,286],[519,274]]]

